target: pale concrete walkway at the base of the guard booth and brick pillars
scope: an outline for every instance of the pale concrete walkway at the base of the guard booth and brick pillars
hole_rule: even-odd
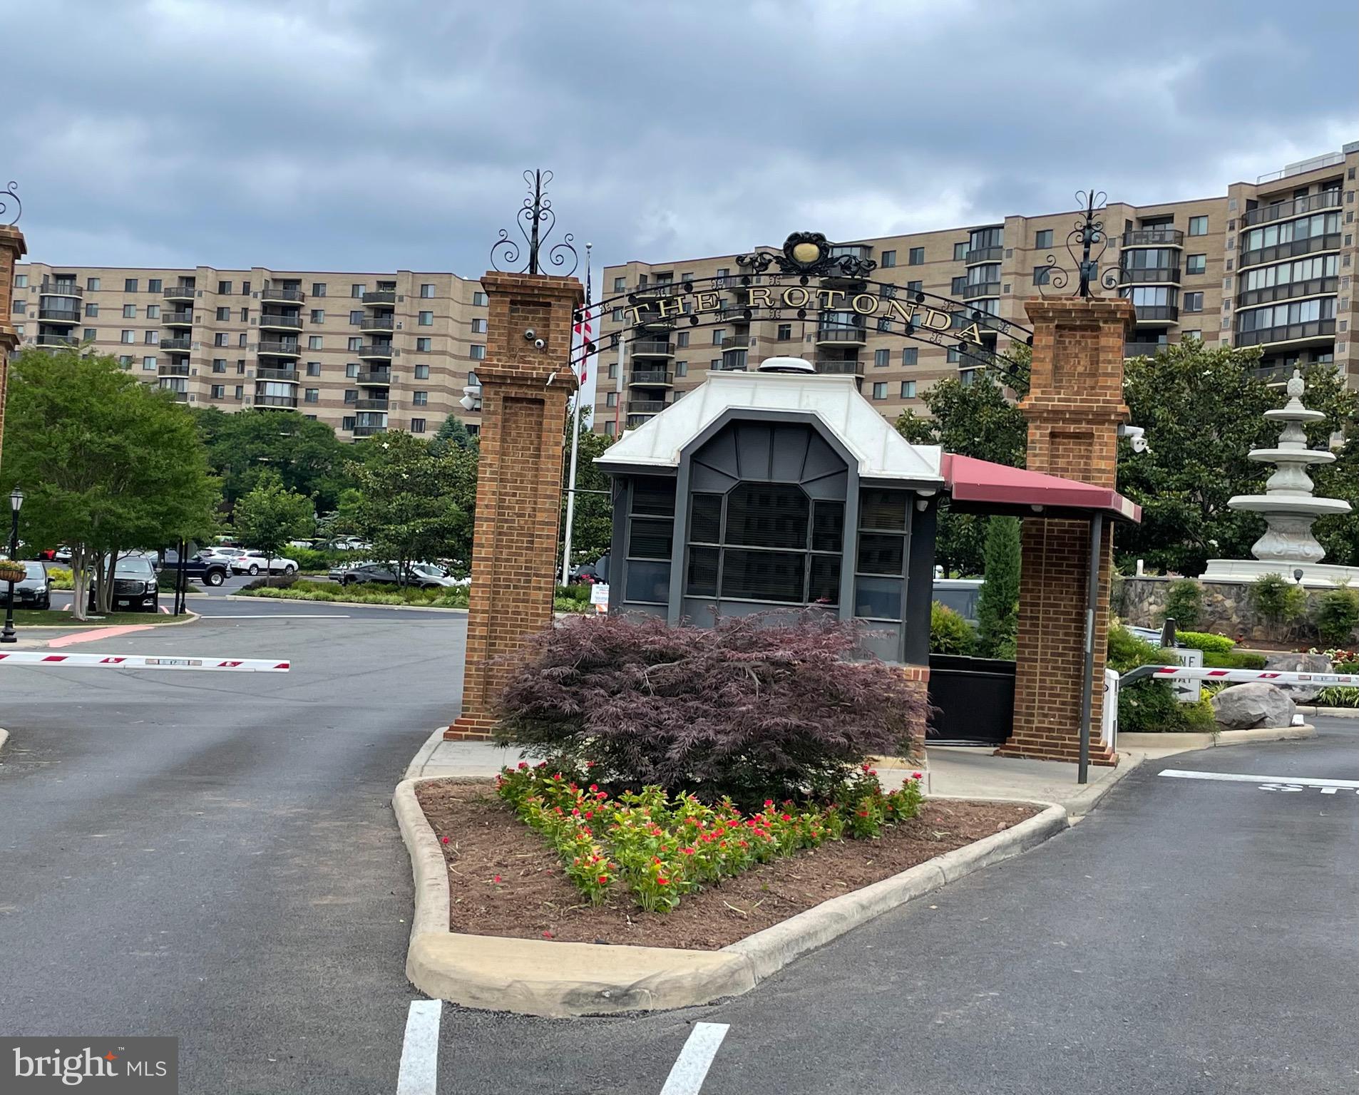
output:
[[[925,795],[957,799],[1022,799],[1056,803],[1072,818],[1089,814],[1118,780],[1132,772],[1147,753],[1120,753],[1118,766],[1090,765],[1089,783],[1076,783],[1074,764],[995,757],[987,749],[957,746],[927,749],[924,765],[906,765],[893,758],[878,761],[883,787],[900,785],[912,772],[924,776]],[[446,742],[440,727],[416,753],[405,778],[438,776],[489,777],[519,762],[514,749],[488,742]]]

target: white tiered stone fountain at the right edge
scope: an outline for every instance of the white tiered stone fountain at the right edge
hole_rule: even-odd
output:
[[[1280,410],[1267,410],[1265,417],[1283,423],[1273,448],[1253,448],[1250,459],[1272,463],[1275,473],[1263,495],[1237,495],[1227,501],[1233,509],[1263,514],[1265,534],[1250,548],[1253,560],[1211,558],[1204,571],[1205,581],[1254,581],[1263,575],[1282,575],[1303,586],[1336,586],[1343,581],[1359,586],[1359,567],[1324,564],[1325,549],[1311,534],[1311,523],[1326,514],[1348,514],[1344,499],[1318,499],[1311,493],[1311,465],[1330,463],[1335,454],[1307,448],[1306,423],[1320,423],[1326,416],[1302,405],[1302,374],[1294,370],[1287,386],[1288,402]]]

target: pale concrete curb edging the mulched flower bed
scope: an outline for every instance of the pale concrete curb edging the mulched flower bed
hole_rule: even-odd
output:
[[[601,947],[448,931],[448,869],[402,780],[391,799],[410,852],[416,912],[406,978],[420,992],[469,1008],[563,1019],[666,1011],[739,996],[807,951],[972,871],[1026,852],[1068,826],[1060,806],[900,875],[822,902],[719,951]]]

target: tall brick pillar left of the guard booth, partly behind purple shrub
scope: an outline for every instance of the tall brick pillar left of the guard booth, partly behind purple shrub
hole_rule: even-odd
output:
[[[552,626],[561,514],[561,443],[571,371],[573,277],[488,273],[481,378],[481,462],[467,602],[462,715],[443,736],[485,739],[508,667],[497,662]],[[525,330],[546,346],[537,349]],[[549,383],[550,378],[550,383]]]

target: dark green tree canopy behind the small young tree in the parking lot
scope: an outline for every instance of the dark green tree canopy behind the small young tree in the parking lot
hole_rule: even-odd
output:
[[[270,471],[322,511],[334,508],[340,492],[351,485],[345,462],[355,454],[325,423],[281,408],[231,414],[200,408],[194,413],[227,505],[235,505]]]

